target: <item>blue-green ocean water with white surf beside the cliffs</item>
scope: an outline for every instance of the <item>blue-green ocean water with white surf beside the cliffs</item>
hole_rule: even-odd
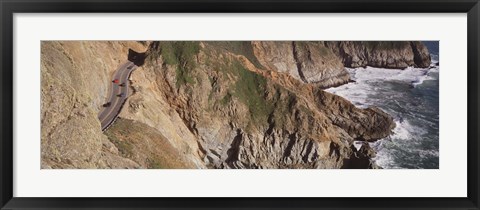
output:
[[[394,118],[394,133],[370,143],[377,152],[374,161],[386,169],[439,168],[438,42],[424,43],[432,57],[429,68],[347,69],[355,82],[326,90],[357,107],[379,107]]]

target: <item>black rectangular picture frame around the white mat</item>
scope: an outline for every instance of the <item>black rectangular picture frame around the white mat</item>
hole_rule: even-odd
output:
[[[0,0],[1,209],[479,209],[478,0]],[[465,198],[25,198],[13,197],[15,13],[467,13],[468,196]],[[448,181],[448,180],[445,180]],[[414,189],[412,189],[414,190]]]

